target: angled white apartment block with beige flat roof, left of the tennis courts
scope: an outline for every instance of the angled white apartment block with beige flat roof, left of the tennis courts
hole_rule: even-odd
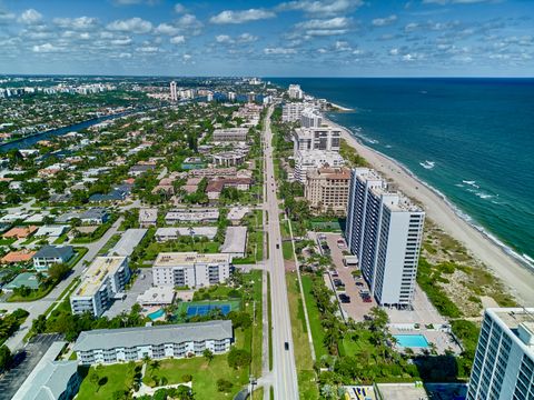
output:
[[[97,257],[83,273],[81,284],[70,294],[72,313],[100,317],[125,290],[130,276],[126,257]]]

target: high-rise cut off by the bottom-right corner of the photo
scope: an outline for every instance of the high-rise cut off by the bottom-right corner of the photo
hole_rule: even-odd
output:
[[[534,308],[486,309],[467,400],[534,399]]]

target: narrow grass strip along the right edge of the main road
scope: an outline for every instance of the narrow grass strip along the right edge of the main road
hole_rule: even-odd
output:
[[[295,363],[297,366],[298,390],[300,399],[318,399],[319,392],[315,382],[314,362],[307,340],[306,321],[304,320],[303,302],[298,290],[297,274],[286,273],[289,313],[291,317],[293,342],[295,346]]]

